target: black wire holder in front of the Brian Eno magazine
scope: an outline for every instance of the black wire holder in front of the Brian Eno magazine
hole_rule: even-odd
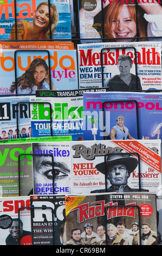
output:
[[[49,209],[51,210],[51,216],[52,216],[52,223],[54,223],[54,209],[49,207],[49,206],[40,206],[40,207],[35,207],[35,206],[26,206],[26,207],[21,207],[21,208],[18,208],[18,244],[21,245],[21,240],[20,240],[20,237],[21,237],[21,234],[20,234],[20,230],[21,230],[21,210],[24,210],[24,209],[30,209],[30,216],[31,216],[31,223],[32,223],[32,216],[34,215],[34,210],[35,209]],[[53,225],[53,244],[52,245],[55,245],[55,236],[54,236],[54,225]],[[33,237],[32,237],[33,238]],[[32,239],[32,243],[33,243],[33,239]]]

